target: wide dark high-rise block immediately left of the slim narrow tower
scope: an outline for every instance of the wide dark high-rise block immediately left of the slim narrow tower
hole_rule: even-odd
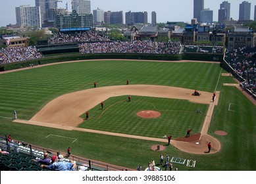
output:
[[[125,22],[127,25],[143,23],[147,24],[147,12],[126,12]]]

